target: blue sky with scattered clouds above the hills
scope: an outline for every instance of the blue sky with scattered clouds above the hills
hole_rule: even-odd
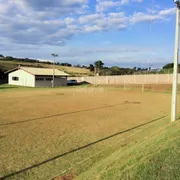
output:
[[[0,0],[0,54],[159,68],[173,61],[172,0]]]

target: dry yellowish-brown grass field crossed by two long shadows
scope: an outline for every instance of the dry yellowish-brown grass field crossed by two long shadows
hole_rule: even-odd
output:
[[[170,114],[170,102],[169,93],[108,87],[2,88],[0,176],[78,176],[117,149],[153,135]]]

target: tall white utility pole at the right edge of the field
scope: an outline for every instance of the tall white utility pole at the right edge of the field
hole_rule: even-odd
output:
[[[175,49],[174,49],[174,70],[173,70],[172,104],[171,104],[171,122],[174,122],[177,120],[180,0],[174,0],[174,3],[176,4],[176,34],[175,34]]]

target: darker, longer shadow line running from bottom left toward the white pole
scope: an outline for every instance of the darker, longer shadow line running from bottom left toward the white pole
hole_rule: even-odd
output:
[[[102,142],[102,141],[105,141],[105,140],[107,140],[107,139],[113,138],[113,137],[118,136],[118,135],[120,135],[120,134],[129,132],[129,131],[132,131],[132,130],[134,130],[134,129],[137,129],[137,128],[139,128],[139,127],[142,127],[142,126],[145,126],[145,125],[147,125],[147,124],[153,123],[153,122],[155,122],[155,121],[161,120],[161,119],[163,119],[163,118],[165,118],[165,117],[167,117],[167,116],[162,116],[162,117],[153,119],[153,120],[151,120],[151,121],[149,121],[149,122],[146,122],[146,123],[140,124],[140,125],[138,125],[138,126],[135,126],[135,127],[133,127],[133,128],[130,128],[130,129],[127,129],[127,130],[124,130],[124,131],[117,132],[117,133],[115,133],[115,134],[112,134],[112,135],[110,135],[110,136],[104,137],[104,138],[99,139],[99,140],[97,140],[97,141],[91,142],[91,143],[86,144],[86,145],[84,145],[84,146],[78,147],[78,148],[73,149],[73,150],[71,150],[71,151],[68,151],[68,152],[65,152],[65,153],[63,153],[63,154],[59,154],[59,155],[57,155],[57,156],[54,156],[54,157],[52,157],[52,158],[50,158],[50,159],[47,159],[47,160],[45,160],[45,161],[42,161],[42,162],[40,162],[40,163],[37,163],[37,164],[34,164],[34,165],[32,165],[32,166],[26,167],[26,168],[24,168],[24,169],[22,169],[22,170],[20,170],[20,171],[16,171],[16,172],[13,172],[13,173],[11,173],[11,174],[8,174],[8,175],[2,177],[1,179],[2,179],[2,180],[3,180],[3,179],[7,179],[7,178],[10,178],[10,177],[15,176],[15,175],[17,175],[17,174],[24,173],[24,172],[26,172],[26,171],[28,171],[28,170],[34,169],[34,168],[36,168],[36,167],[39,167],[39,166],[41,166],[41,165],[43,165],[43,164],[46,164],[46,163],[48,163],[48,162],[51,162],[51,161],[53,161],[53,160],[55,160],[55,159],[58,159],[58,158],[61,158],[61,157],[63,157],[63,156],[66,156],[66,155],[68,155],[68,154],[71,154],[71,153],[77,152],[77,151],[79,151],[79,150],[88,148],[88,147],[90,147],[90,146],[92,146],[92,145],[94,145],[94,144],[97,144],[97,143],[99,143],[99,142]]]

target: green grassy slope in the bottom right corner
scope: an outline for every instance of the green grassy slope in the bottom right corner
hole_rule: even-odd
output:
[[[180,179],[179,147],[180,122],[165,124],[152,136],[116,151],[77,179]]]

